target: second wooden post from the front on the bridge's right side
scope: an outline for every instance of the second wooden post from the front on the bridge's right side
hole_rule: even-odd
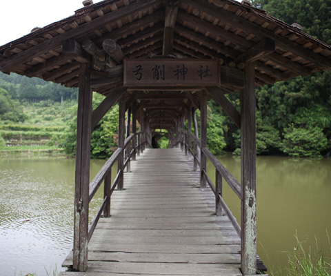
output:
[[[203,175],[203,170],[207,170],[207,158],[202,151],[203,148],[207,147],[207,95],[205,90],[201,92],[200,119],[200,188],[205,188],[206,181]]]

